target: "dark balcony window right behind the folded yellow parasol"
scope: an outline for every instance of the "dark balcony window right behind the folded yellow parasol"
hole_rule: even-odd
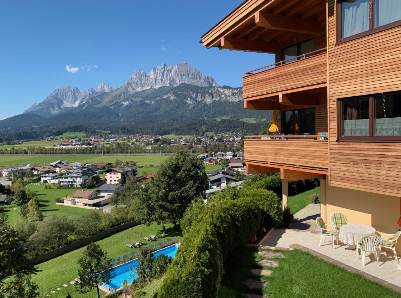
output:
[[[315,109],[299,109],[283,112],[285,135],[314,135]]]

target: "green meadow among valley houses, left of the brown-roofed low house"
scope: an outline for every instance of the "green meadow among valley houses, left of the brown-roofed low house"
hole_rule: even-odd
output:
[[[63,198],[65,195],[71,195],[77,189],[44,189],[43,185],[28,185],[28,189],[36,193],[36,197],[39,201],[39,207],[43,211],[44,215],[65,215],[67,217],[75,217],[83,213],[89,213],[91,211],[101,213],[101,210],[91,210],[75,207],[67,207],[56,205],[55,198]],[[94,188],[96,189],[96,188]],[[14,206],[15,207],[15,206]],[[20,218],[18,214],[18,208],[13,210],[13,208],[6,209],[8,213],[8,223],[12,226]]]

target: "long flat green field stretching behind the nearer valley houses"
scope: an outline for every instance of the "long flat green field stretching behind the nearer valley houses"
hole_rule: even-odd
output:
[[[1,156],[0,165],[16,165],[21,163],[51,163],[59,159],[67,159],[72,163],[95,163],[107,162],[114,163],[116,159],[121,161],[136,161],[138,165],[160,165],[168,159],[165,155],[39,155],[39,156]]]

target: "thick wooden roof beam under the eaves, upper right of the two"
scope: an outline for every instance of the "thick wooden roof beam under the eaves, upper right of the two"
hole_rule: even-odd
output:
[[[255,14],[255,22],[257,26],[275,30],[307,34],[322,32],[322,24],[319,21],[294,16],[282,16],[259,11]]]

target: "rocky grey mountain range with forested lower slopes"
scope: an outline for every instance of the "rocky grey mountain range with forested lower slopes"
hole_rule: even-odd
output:
[[[23,114],[1,120],[0,132],[85,125],[111,130],[124,126],[130,128],[130,133],[143,133],[146,125],[174,129],[196,119],[205,125],[205,121],[221,119],[266,118],[266,113],[245,110],[242,100],[241,87],[219,86],[212,77],[185,62],[162,64],[150,72],[134,72],[117,88],[105,83],[88,90],[57,88]]]

